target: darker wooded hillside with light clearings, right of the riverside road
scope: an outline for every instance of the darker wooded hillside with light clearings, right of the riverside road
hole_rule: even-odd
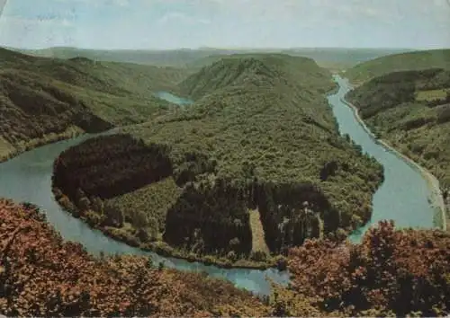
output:
[[[368,126],[450,189],[450,71],[376,77],[347,94]]]

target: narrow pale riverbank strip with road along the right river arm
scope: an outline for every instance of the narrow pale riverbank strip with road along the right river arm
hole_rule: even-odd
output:
[[[352,86],[353,88],[354,86]],[[350,107],[354,114],[355,118],[358,121],[358,123],[365,129],[365,132],[373,138],[373,140],[383,146],[386,150],[390,151],[393,155],[398,156],[403,160],[405,163],[408,163],[413,169],[416,169],[420,174],[423,176],[423,178],[428,183],[428,188],[431,190],[431,197],[429,198],[431,202],[431,206],[437,210],[437,217],[435,218],[437,220],[437,226],[439,226],[443,231],[446,231],[447,229],[447,212],[446,212],[446,203],[444,200],[443,193],[439,186],[439,181],[437,178],[429,172],[426,168],[419,165],[419,163],[416,163],[414,160],[412,160],[407,155],[401,154],[400,151],[389,145],[385,140],[378,139],[374,133],[370,130],[370,128],[365,125],[364,120],[359,115],[359,110],[356,108],[355,105],[353,105],[351,102],[347,102],[344,98],[340,99],[341,102],[345,103],[348,107]]]

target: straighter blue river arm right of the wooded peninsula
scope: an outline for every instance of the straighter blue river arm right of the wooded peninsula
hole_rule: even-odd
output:
[[[384,182],[374,194],[374,212],[370,222],[351,235],[353,242],[360,242],[370,225],[383,219],[393,219],[396,227],[432,228],[435,209],[428,198],[431,190],[422,174],[376,143],[356,120],[354,111],[341,99],[351,90],[347,79],[335,75],[339,91],[329,96],[329,104],[338,120],[339,132],[348,134],[363,151],[372,155],[384,166]]]

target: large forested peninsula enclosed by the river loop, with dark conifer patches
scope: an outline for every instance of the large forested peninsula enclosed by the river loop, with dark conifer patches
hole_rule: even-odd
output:
[[[132,245],[235,266],[350,231],[383,167],[339,136],[330,78],[303,57],[222,58],[179,85],[193,105],[61,154],[57,199]],[[251,251],[250,209],[271,255]]]

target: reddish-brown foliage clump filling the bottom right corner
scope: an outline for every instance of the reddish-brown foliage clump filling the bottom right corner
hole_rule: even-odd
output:
[[[292,287],[275,288],[278,315],[450,314],[450,235],[381,222],[361,244],[308,241],[290,252]]]

